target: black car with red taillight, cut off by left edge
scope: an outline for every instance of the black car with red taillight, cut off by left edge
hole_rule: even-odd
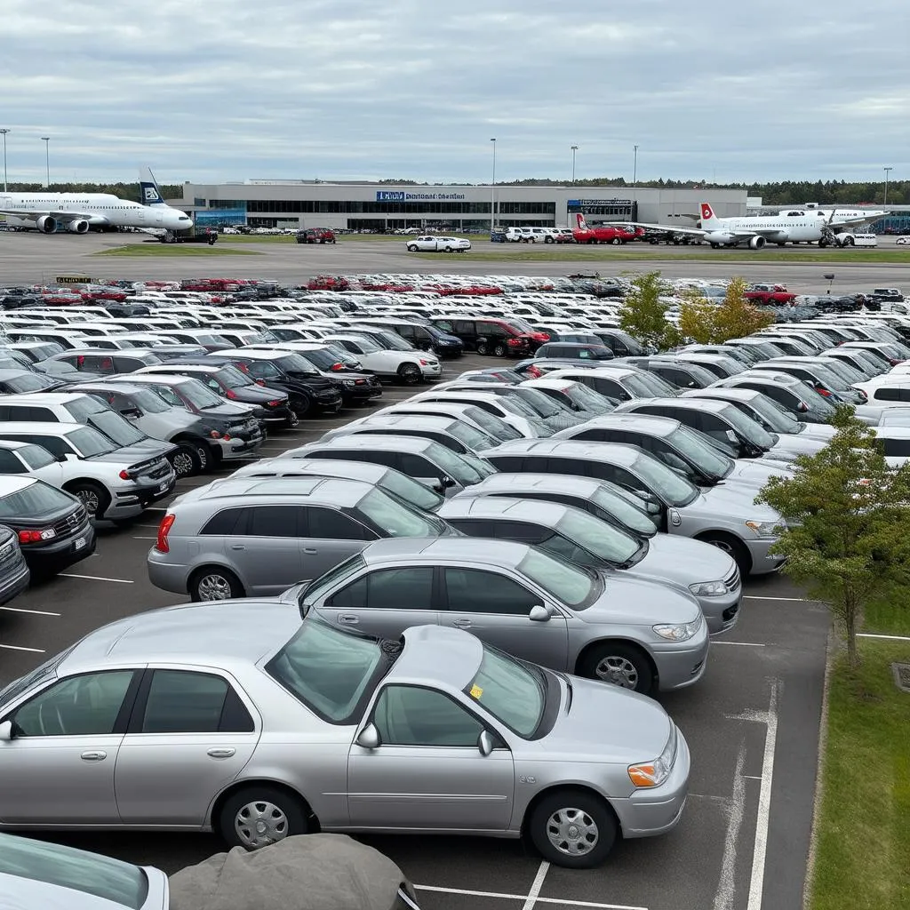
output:
[[[44,480],[0,477],[0,521],[15,531],[32,575],[56,575],[95,551],[85,506]],[[0,549],[0,568],[3,561]]]

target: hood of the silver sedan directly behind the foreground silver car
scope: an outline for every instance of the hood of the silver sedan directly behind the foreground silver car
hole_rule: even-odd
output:
[[[622,570],[604,571],[601,575],[601,596],[587,609],[574,611],[581,622],[654,625],[692,622],[702,613],[698,601],[688,591],[679,591],[651,578],[636,578]]]

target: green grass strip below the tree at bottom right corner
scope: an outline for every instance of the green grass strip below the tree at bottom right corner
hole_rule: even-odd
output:
[[[811,910],[910,907],[910,693],[891,669],[910,642],[860,642],[861,668],[831,673]]]

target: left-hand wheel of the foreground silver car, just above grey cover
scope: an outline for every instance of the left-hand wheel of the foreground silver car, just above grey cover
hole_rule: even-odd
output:
[[[268,826],[265,835],[246,824],[257,817]],[[229,846],[258,850],[292,834],[308,834],[309,824],[305,807],[296,796],[268,784],[250,784],[221,805],[217,831]]]

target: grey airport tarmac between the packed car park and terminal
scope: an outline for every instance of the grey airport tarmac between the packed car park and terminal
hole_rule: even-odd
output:
[[[219,255],[231,248],[231,242],[219,242],[218,253],[184,256],[151,255],[137,257],[103,257],[95,254],[106,249],[142,243],[137,234],[90,234],[87,236],[8,232],[0,234],[0,284],[53,283],[57,276],[83,275],[89,278],[189,278],[196,276],[230,276],[236,278],[273,278],[283,284],[299,284],[314,275],[350,274],[356,272],[459,273],[462,275],[567,275],[581,272],[617,275],[628,271],[660,270],[668,278],[728,278],[740,275],[750,281],[778,281],[787,288],[804,294],[824,294],[829,282],[824,275],[834,273],[833,294],[867,291],[873,287],[910,288],[910,252],[906,262],[838,261],[837,249],[818,250],[822,262],[767,261],[743,262],[748,250],[711,250],[705,247],[624,247],[623,256],[640,250],[645,258],[612,259],[612,250],[603,249],[603,260],[572,258],[574,247],[548,248],[552,259],[525,261],[519,258],[529,251],[524,245],[491,244],[473,241],[477,252],[508,256],[506,259],[472,259],[460,256],[427,258],[409,253],[404,239],[356,237],[339,238],[335,245],[308,246],[280,243],[265,239],[262,243],[237,243],[237,256]],[[886,238],[882,248],[895,248]],[[208,248],[194,248],[207,253]],[[531,248],[533,249],[533,248]],[[784,254],[805,253],[806,247],[787,247]],[[895,248],[904,249],[904,248]],[[585,248],[586,252],[588,248]],[[539,250],[537,250],[539,251]],[[665,258],[648,258],[655,252]],[[776,250],[775,250],[776,252]],[[258,255],[245,255],[256,253]],[[710,257],[708,261],[695,256]],[[737,261],[732,261],[733,259]]]

